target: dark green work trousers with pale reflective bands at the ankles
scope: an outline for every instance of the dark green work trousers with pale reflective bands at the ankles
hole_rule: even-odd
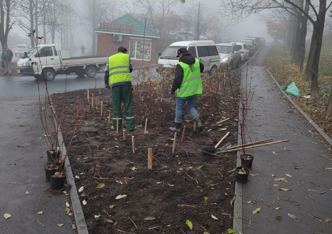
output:
[[[124,110],[126,114],[126,125],[129,131],[134,130],[134,100],[132,96],[131,86],[119,85],[112,88],[113,99],[113,126],[117,129],[117,118],[119,118],[119,130],[122,127],[122,114],[121,114],[121,102],[124,102]]]

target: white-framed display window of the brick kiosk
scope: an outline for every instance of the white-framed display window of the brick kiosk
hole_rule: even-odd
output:
[[[143,40],[130,40],[129,55],[133,60],[151,61],[151,41],[145,41],[143,47]]]

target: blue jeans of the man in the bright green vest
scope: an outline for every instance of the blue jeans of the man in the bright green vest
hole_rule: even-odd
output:
[[[177,97],[176,108],[175,108],[175,123],[182,123],[183,107],[187,102],[187,108],[191,115],[195,119],[198,117],[198,112],[196,110],[196,95],[189,97]]]

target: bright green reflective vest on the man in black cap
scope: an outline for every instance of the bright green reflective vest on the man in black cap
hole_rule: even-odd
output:
[[[176,94],[178,97],[189,97],[196,94],[202,94],[202,79],[200,61],[195,59],[194,64],[179,62],[183,69],[183,81]]]

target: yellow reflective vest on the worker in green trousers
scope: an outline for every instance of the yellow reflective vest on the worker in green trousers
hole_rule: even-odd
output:
[[[108,58],[108,64],[110,73],[108,83],[110,86],[131,85],[128,54],[116,53]]]

